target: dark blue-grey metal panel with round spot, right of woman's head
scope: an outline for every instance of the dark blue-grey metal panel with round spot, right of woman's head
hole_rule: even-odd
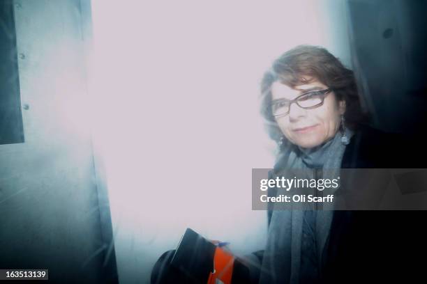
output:
[[[374,125],[421,134],[427,121],[426,1],[348,0],[352,57]]]

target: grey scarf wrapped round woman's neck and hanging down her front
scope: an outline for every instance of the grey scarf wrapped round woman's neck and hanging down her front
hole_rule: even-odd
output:
[[[314,178],[313,168],[323,168],[322,178],[339,175],[345,146],[341,142],[341,132],[329,141],[312,149],[290,145],[281,152],[278,159],[284,170],[306,171],[308,178]],[[346,129],[351,139],[353,132]],[[325,171],[327,170],[327,171]],[[280,175],[280,173],[278,173]],[[332,175],[331,177],[328,177]],[[318,263],[322,262],[322,251],[331,227],[333,211],[318,211],[315,216],[315,238]],[[301,265],[301,236],[304,210],[274,210],[267,237],[267,246],[262,261],[260,284],[299,283]]]

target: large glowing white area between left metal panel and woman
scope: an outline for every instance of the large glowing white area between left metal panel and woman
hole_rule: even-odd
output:
[[[250,174],[274,158],[258,84],[285,50],[328,46],[319,2],[92,2],[90,90],[121,283],[147,280],[187,227],[236,253],[262,249]]]

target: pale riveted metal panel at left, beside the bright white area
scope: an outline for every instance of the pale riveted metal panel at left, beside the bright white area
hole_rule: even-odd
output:
[[[80,4],[15,1],[28,107],[25,143],[0,145],[0,267],[48,268],[54,283],[116,283],[100,222]]]

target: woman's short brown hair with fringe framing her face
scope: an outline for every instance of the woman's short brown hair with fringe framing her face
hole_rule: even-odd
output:
[[[261,81],[261,113],[271,139],[279,141],[283,134],[271,111],[271,86],[274,82],[294,88],[319,80],[334,91],[337,100],[345,100],[345,125],[352,129],[367,123],[368,114],[362,110],[357,84],[352,70],[323,47],[299,45],[278,57]]]

